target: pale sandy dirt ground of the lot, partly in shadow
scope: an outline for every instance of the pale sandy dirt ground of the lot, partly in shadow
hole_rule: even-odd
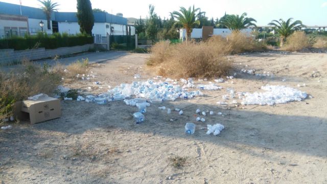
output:
[[[134,74],[141,74],[137,80],[146,80],[155,76],[145,66],[148,57],[126,54],[95,64],[89,71],[95,78],[66,87],[99,94],[108,86],[131,83],[136,80]],[[132,120],[136,107],[122,101],[105,105],[62,101],[60,119],[35,125],[21,122],[11,130],[1,130],[0,180],[327,183],[327,54],[267,52],[230,58],[236,68],[233,72],[238,75],[228,83],[219,83],[222,90],[204,91],[204,97],[190,100],[151,104],[143,124],[136,125]],[[274,77],[241,74],[242,68],[270,72]],[[313,71],[320,72],[321,77],[312,78]],[[303,83],[306,86],[297,87]],[[253,92],[261,91],[260,87],[266,84],[299,88],[313,98],[274,106],[217,105],[227,94],[227,87],[236,92]],[[158,109],[162,105],[180,108],[184,114],[167,114]],[[196,122],[197,108],[225,116],[206,116],[205,123]],[[195,134],[184,134],[186,122],[196,124]],[[225,129],[218,136],[206,135],[206,125],[216,123]],[[175,155],[186,157],[185,166],[171,166],[170,158]]]

